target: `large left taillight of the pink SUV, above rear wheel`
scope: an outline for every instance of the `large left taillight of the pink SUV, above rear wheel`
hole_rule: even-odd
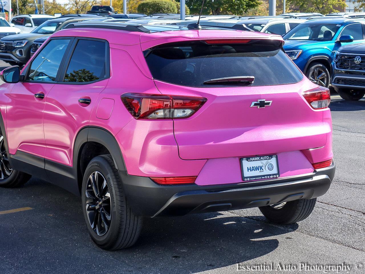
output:
[[[203,97],[144,93],[126,93],[121,99],[136,119],[188,118],[207,101]]]

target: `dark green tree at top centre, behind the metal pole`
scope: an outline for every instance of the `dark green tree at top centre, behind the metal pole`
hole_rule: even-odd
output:
[[[186,0],[190,12],[199,14],[202,1]],[[256,8],[261,4],[259,0],[205,0],[203,14],[234,14],[242,15],[247,10]]]

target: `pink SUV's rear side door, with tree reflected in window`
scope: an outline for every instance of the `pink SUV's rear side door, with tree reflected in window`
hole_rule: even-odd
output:
[[[89,125],[91,111],[110,74],[109,46],[104,40],[75,38],[66,60],[45,106],[46,170],[53,170],[50,165],[55,163],[73,165],[76,134]]]

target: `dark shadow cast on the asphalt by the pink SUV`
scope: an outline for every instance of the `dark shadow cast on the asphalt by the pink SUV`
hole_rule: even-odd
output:
[[[103,251],[87,233],[80,197],[32,178],[19,189],[2,189],[0,200],[6,205],[0,210],[34,208],[0,215],[7,235],[1,246],[9,251],[3,267],[9,273],[12,262],[18,262],[16,273],[196,273],[266,255],[278,247],[276,236],[298,228],[269,224],[263,216],[237,216],[244,210],[145,218],[135,246]],[[47,271],[40,271],[50,260]],[[90,262],[97,262],[97,271]]]

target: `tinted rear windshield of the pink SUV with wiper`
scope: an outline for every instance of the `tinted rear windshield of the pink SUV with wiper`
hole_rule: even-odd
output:
[[[253,83],[244,84],[250,86],[292,84],[303,79],[281,46],[263,43],[169,43],[144,54],[154,79],[189,87],[212,87],[208,81],[225,77],[253,76]],[[227,85],[243,84],[220,82],[214,87]]]

